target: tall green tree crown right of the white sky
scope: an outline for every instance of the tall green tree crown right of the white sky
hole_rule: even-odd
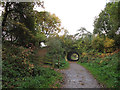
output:
[[[116,24],[114,24],[116,23]],[[118,3],[107,3],[105,9],[94,21],[94,33],[104,33],[109,37],[118,30]],[[111,35],[111,33],[113,33]],[[114,35],[113,35],[114,36]]]

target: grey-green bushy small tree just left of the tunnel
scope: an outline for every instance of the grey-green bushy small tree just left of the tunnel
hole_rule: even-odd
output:
[[[64,52],[61,40],[57,37],[50,37],[48,39],[47,45],[49,46],[48,54],[52,56],[53,68],[56,62],[58,63],[58,67],[60,67],[60,59],[62,59]]]

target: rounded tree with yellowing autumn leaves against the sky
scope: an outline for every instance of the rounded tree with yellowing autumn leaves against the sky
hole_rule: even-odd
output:
[[[46,36],[59,33],[61,31],[61,21],[55,14],[50,14],[47,11],[35,12],[36,26],[44,32]]]

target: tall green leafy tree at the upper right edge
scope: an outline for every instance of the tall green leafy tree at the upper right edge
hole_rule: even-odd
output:
[[[94,21],[94,34],[107,36],[110,39],[115,40],[117,47],[120,46],[120,34],[119,32],[119,4],[120,2],[110,2],[106,4],[104,10]]]

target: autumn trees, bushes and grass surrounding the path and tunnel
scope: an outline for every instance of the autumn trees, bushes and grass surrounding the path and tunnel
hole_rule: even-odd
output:
[[[47,11],[43,2],[1,2],[2,12],[2,87],[57,88],[65,69],[67,52],[79,53],[86,67],[104,87],[120,86],[120,3],[109,2],[94,20],[93,33],[85,27],[75,35],[61,26],[59,17]],[[64,32],[63,35],[59,35]],[[41,42],[47,53],[38,52]],[[56,83],[57,82],[57,83]]]

